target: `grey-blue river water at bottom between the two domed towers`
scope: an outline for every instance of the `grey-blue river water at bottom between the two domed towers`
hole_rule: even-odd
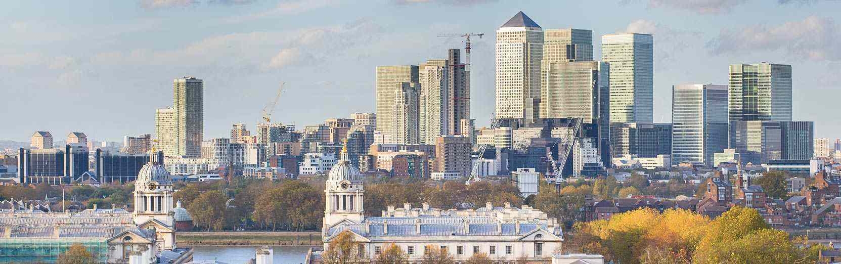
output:
[[[254,258],[260,246],[190,246],[193,261],[222,261],[229,264],[243,264]],[[274,263],[304,263],[310,246],[274,246]]]

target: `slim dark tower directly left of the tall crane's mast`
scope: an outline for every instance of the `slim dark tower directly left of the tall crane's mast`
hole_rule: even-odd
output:
[[[462,63],[462,50],[447,50],[447,135],[463,135],[472,133],[464,131],[460,125],[462,120],[470,119],[470,73]],[[422,88],[422,86],[421,86]]]

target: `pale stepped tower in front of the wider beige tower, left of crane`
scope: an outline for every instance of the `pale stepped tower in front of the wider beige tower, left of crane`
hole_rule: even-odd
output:
[[[418,144],[420,133],[418,129],[418,95],[420,85],[417,82],[400,82],[399,88],[394,90],[394,114],[392,130],[385,131],[392,135],[394,144]],[[377,121],[379,124],[379,121]]]

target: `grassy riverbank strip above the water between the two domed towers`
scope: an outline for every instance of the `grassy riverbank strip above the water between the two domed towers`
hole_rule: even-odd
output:
[[[176,232],[178,246],[322,246],[320,232]]]

